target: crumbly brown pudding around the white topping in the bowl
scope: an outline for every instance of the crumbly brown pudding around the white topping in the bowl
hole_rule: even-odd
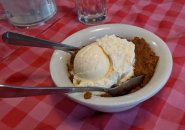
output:
[[[132,90],[129,90],[125,94],[133,93],[142,87],[144,87],[152,78],[155,68],[157,65],[157,62],[159,60],[159,57],[156,56],[156,54],[153,52],[153,50],[150,48],[149,44],[143,39],[139,37],[135,37],[134,39],[131,40],[135,44],[135,65],[134,65],[134,76],[139,76],[139,75],[144,75],[144,80],[142,83]],[[77,52],[75,52],[71,56],[70,63],[67,65],[68,66],[68,71],[73,70],[73,62],[74,62],[74,57]],[[73,75],[70,74],[69,78],[71,81],[73,81]],[[92,96],[91,92],[86,92],[84,94],[85,99],[90,99]],[[104,93],[101,94],[100,96],[102,97],[110,97],[111,95]]]

